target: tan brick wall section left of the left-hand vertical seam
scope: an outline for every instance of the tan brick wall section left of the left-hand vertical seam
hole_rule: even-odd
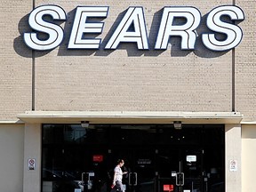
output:
[[[31,51],[20,36],[31,0],[1,1],[0,120],[16,119],[31,106]]]

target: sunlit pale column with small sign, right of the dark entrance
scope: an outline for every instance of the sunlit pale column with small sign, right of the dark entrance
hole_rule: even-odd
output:
[[[241,156],[242,138],[241,124],[226,124],[226,192],[241,192]],[[230,161],[236,162],[236,171],[230,169]]]

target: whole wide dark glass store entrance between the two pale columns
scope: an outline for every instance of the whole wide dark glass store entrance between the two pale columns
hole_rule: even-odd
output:
[[[124,159],[126,192],[224,192],[223,125],[43,125],[42,192],[109,192]]]

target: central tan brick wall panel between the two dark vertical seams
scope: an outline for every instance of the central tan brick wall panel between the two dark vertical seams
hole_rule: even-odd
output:
[[[97,3],[88,3],[93,4]],[[103,38],[118,14],[131,4],[109,4]],[[149,36],[156,36],[160,20],[157,12],[169,4],[160,1],[155,7],[147,1],[134,3],[145,8]],[[201,12],[210,12],[219,5],[185,4]],[[68,12],[76,5],[73,2],[63,7]],[[66,25],[72,23],[72,13]],[[165,52],[138,52],[132,44],[121,45],[114,52],[67,51],[65,43],[59,50],[36,58],[36,110],[231,110],[231,52],[209,52],[199,43],[195,52],[182,52],[177,39],[172,42],[172,50]]]

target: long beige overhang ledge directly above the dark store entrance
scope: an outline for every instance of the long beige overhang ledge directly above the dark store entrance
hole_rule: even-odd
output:
[[[17,116],[30,124],[240,124],[239,112],[174,111],[27,111]]]

